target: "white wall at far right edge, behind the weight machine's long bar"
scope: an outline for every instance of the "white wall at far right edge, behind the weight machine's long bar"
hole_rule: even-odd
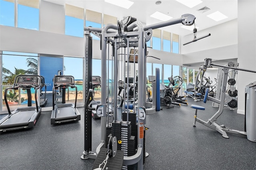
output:
[[[238,63],[256,71],[256,1],[238,0]],[[256,73],[238,71],[238,110],[244,114],[245,86],[256,81]]]

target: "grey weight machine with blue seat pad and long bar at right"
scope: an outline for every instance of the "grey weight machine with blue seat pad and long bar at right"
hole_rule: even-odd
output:
[[[246,86],[246,108],[247,108],[246,113],[245,113],[246,131],[239,131],[239,130],[226,128],[224,125],[219,125],[216,122],[218,117],[223,113],[225,100],[228,100],[230,98],[230,96],[226,95],[226,85],[227,85],[227,81],[228,81],[228,71],[229,71],[229,69],[248,71],[248,72],[253,72],[253,73],[256,73],[256,71],[240,69],[240,68],[237,68],[237,67],[230,67],[230,66],[214,64],[214,63],[212,63],[212,59],[208,59],[208,58],[204,59],[204,65],[202,65],[200,68],[202,68],[204,71],[206,71],[206,69],[208,67],[211,67],[212,65],[222,67],[222,69],[224,71],[222,79],[218,80],[218,81],[222,81],[222,85],[220,87],[221,88],[220,99],[216,99],[214,97],[209,96],[208,95],[209,89],[207,88],[205,96],[204,96],[204,103],[206,103],[207,100],[214,101],[214,102],[219,104],[219,109],[206,122],[206,121],[203,121],[202,119],[199,119],[197,117],[197,111],[198,110],[205,110],[205,108],[202,107],[202,106],[198,106],[198,105],[191,105],[191,107],[193,109],[196,109],[196,113],[194,115],[193,126],[196,127],[196,122],[199,122],[199,123],[201,123],[201,124],[203,124],[203,125],[205,125],[209,128],[217,130],[218,132],[220,132],[220,134],[222,134],[222,136],[224,138],[228,138],[228,135],[227,135],[226,132],[229,132],[229,133],[234,133],[234,134],[247,135],[248,140],[250,140],[252,142],[256,142],[256,123],[255,123],[256,122],[256,106],[255,106],[255,103],[256,103],[256,94],[255,94],[256,93],[256,90],[255,90],[256,89],[256,82],[250,83],[248,86]],[[232,65],[232,62],[229,65]]]

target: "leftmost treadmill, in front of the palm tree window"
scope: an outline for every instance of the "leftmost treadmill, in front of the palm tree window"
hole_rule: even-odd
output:
[[[12,87],[6,88],[4,91],[4,101],[8,109],[8,115],[0,120],[0,132],[16,129],[33,128],[41,114],[41,107],[38,107],[37,90],[41,87],[40,75],[17,75],[14,79]],[[19,88],[26,90],[28,95],[28,106],[18,107],[14,111],[10,111],[7,101],[8,90],[18,90]],[[36,106],[32,106],[31,89],[35,89]]]

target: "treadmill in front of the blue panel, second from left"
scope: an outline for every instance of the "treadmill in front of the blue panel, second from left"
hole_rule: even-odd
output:
[[[75,104],[66,103],[66,89],[68,87],[76,89],[76,99]],[[62,91],[62,102],[56,103],[54,105],[54,99],[56,93],[55,89],[60,88]],[[76,108],[77,101],[77,87],[75,86],[74,77],[71,75],[56,75],[53,78],[53,87],[52,87],[52,116],[51,116],[51,125],[59,124],[69,121],[80,121],[80,113]]]

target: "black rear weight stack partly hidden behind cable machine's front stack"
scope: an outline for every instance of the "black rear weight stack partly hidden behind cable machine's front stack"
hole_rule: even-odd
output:
[[[122,120],[127,121],[127,113],[122,113]],[[136,113],[129,112],[129,121],[131,122],[132,136],[135,136],[135,146],[137,147],[137,136],[138,136],[138,124]]]

